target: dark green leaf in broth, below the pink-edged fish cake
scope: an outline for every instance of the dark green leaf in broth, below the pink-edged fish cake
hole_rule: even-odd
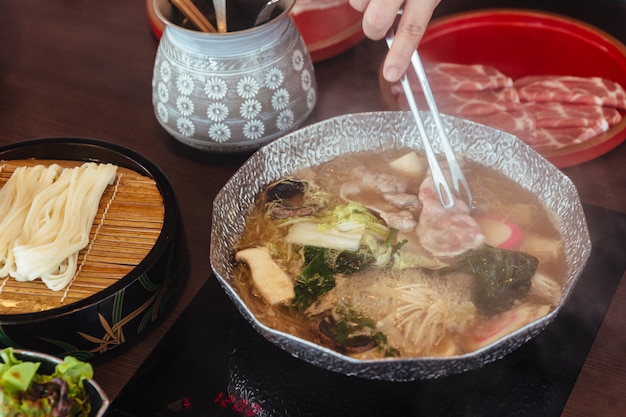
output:
[[[474,276],[472,301],[485,314],[496,314],[526,296],[539,260],[524,252],[484,245],[461,255],[445,272],[462,271]]]

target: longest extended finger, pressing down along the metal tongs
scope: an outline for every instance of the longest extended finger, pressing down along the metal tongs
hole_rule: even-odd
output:
[[[439,1],[408,1],[406,3],[394,41],[383,64],[385,80],[398,81],[406,72],[411,55],[424,36],[428,22]]]

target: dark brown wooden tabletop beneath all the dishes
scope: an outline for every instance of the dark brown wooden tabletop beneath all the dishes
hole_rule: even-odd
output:
[[[437,15],[470,7],[537,7],[585,19],[626,42],[626,4],[597,1],[443,0]],[[542,6],[542,3],[549,3]],[[96,363],[115,398],[211,277],[211,202],[246,155],[187,148],[157,123],[151,104],[157,40],[143,0],[0,2],[0,145],[38,137],[91,137],[125,145],[159,165],[177,194],[191,259],[174,310],[139,343]],[[319,100],[307,123],[383,109],[381,42],[364,41],[318,63]],[[626,144],[565,169],[584,203],[626,213]],[[217,284],[216,290],[217,290]],[[563,416],[618,416],[626,410],[626,280],[613,297]]]

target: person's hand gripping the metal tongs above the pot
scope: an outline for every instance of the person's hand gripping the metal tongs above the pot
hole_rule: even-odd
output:
[[[394,24],[398,10],[404,10],[389,53],[383,64],[383,77],[395,82],[406,72],[411,55],[417,48],[435,7],[441,0],[349,0],[363,13],[363,32],[373,40],[385,37]]]

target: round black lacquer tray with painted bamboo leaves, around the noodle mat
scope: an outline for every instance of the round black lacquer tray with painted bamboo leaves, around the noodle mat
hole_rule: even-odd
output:
[[[157,237],[147,255],[106,288],[47,310],[0,314],[0,348],[88,360],[139,339],[167,313],[187,276],[184,232],[169,180],[138,153],[98,140],[35,139],[0,148],[2,161],[30,158],[108,162],[149,177],[163,200],[163,223],[160,232],[154,232]],[[118,255],[112,252],[110,258]],[[1,297],[0,293],[0,301]]]

